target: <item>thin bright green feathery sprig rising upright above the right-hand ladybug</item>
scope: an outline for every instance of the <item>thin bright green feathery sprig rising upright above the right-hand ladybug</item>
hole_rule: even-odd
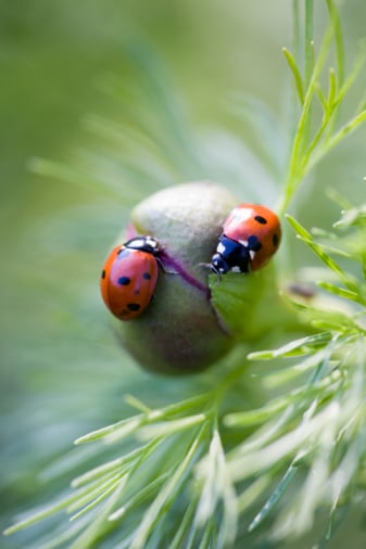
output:
[[[295,56],[283,48],[283,55],[294,79],[294,88],[300,103],[300,116],[292,140],[285,192],[280,204],[283,214],[296,189],[306,175],[318,162],[328,154],[346,136],[357,129],[366,119],[365,104],[362,102],[355,114],[341,126],[336,127],[340,106],[359,74],[366,60],[366,48],[362,47],[349,76],[344,78],[344,51],[340,20],[332,0],[327,0],[329,24],[317,55],[311,36],[310,24],[305,33],[305,75]],[[312,21],[313,2],[305,2],[305,18]],[[336,68],[328,68],[328,91],[324,90],[320,77],[327,71],[326,62],[331,44],[336,48]],[[314,104],[318,101],[323,116],[320,120],[314,116]],[[312,126],[314,129],[312,130]]]

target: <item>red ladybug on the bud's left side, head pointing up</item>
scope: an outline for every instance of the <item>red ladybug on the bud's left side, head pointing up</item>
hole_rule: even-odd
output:
[[[100,280],[103,301],[119,320],[139,317],[148,307],[157,280],[161,246],[152,237],[135,237],[112,250]]]

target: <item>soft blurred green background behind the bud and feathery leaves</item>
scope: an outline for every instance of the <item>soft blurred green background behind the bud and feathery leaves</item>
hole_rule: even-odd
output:
[[[131,93],[127,106],[139,112],[130,91],[139,89],[131,43],[142,43],[161,61],[193,135],[220,127],[255,151],[256,141],[230,110],[232,98],[253,95],[274,113],[283,112],[288,75],[280,49],[291,47],[291,5],[290,0],[0,2],[2,527],[16,510],[64,486],[61,470],[54,477],[52,470],[38,472],[76,436],[123,417],[124,393],[151,399],[154,387],[159,399],[160,381],[116,347],[98,290],[101,264],[134,196],[154,190],[155,180],[130,189],[124,203],[102,190],[35,175],[29,158],[73,165],[83,151],[105,150],[83,120],[90,113],[118,118],[102,89],[111,73]],[[321,33],[324,7],[316,15]],[[365,2],[349,0],[342,21],[352,60],[365,34]],[[365,85],[363,77],[358,97]],[[337,219],[326,187],[357,203],[365,199],[365,138],[362,129],[321,163],[298,205],[302,222],[327,227]],[[172,183],[194,175],[187,166]],[[216,176],[214,169],[197,171],[197,178]],[[169,384],[167,398],[189,391],[191,382],[177,383]],[[20,539],[7,539],[4,547],[22,547]]]

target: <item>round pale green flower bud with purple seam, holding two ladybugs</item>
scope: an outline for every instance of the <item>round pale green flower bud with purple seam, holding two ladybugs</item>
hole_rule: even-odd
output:
[[[197,372],[231,348],[235,340],[212,306],[210,271],[202,263],[210,264],[237,202],[216,184],[197,182],[160,191],[132,210],[132,235],[149,234],[163,246],[153,301],[138,318],[116,323],[124,347],[142,367],[169,374]]]

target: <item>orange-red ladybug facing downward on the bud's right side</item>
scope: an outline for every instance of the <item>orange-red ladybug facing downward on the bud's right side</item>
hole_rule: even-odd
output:
[[[224,222],[210,268],[216,274],[257,270],[274,255],[280,240],[276,214],[258,204],[239,204]]]

